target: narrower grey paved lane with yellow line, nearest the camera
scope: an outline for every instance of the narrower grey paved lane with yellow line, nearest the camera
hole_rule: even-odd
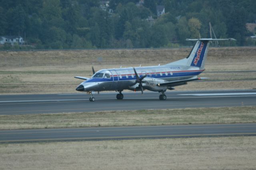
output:
[[[0,131],[0,143],[255,135],[256,124],[61,128],[2,130]]]

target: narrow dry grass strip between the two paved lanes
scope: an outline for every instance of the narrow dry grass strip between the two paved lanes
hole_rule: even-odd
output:
[[[0,129],[255,123],[256,107],[0,115]]]

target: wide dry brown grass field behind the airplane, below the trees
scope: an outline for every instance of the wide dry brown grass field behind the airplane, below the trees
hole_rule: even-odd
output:
[[[137,67],[140,64],[158,65],[158,63],[163,65],[186,57],[190,49],[1,51],[0,94],[74,93],[81,80],[73,77],[91,76],[92,65],[96,70],[116,68],[120,65],[122,67]],[[210,48],[206,71],[201,75],[201,77],[210,77],[210,81],[202,81],[196,86],[194,85],[196,82],[192,82],[176,89],[256,88],[256,72],[218,73],[218,71],[256,71],[255,65],[256,47]],[[40,86],[39,90],[36,88],[38,86]]]

